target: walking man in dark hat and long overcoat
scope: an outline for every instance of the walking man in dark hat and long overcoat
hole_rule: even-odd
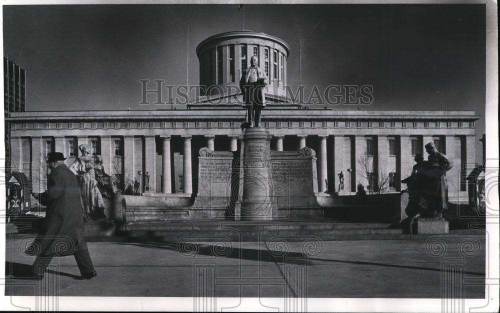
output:
[[[61,152],[48,154],[47,167],[51,170],[47,190],[32,195],[46,206],[40,233],[26,253],[36,255],[33,263],[35,279],[41,280],[54,256],[73,255],[81,276],[90,279],[97,275],[88,254],[84,238],[80,190],[74,173],[64,164]]]

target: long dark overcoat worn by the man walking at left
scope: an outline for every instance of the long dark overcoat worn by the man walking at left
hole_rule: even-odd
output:
[[[46,205],[46,213],[35,239],[35,254],[64,256],[87,249],[78,181],[66,165],[52,170],[47,190],[39,194],[38,201]]]

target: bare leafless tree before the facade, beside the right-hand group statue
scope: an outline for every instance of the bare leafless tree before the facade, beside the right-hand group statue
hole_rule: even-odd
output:
[[[379,153],[372,155],[364,150],[357,159],[357,163],[359,164],[359,174],[368,181],[369,194],[387,192],[390,177],[385,170],[381,169],[382,166],[378,166],[378,164],[384,163]]]

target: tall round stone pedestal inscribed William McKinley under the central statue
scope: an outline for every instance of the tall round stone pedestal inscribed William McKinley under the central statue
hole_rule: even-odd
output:
[[[245,128],[242,131],[241,220],[272,219],[271,138],[264,128]]]

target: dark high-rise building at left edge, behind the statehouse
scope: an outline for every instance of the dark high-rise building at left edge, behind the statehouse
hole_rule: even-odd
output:
[[[15,58],[3,53],[3,114],[23,112],[26,99],[26,71],[15,63]],[[9,159],[10,129],[5,121],[5,157]],[[10,164],[5,164],[9,167]]]

